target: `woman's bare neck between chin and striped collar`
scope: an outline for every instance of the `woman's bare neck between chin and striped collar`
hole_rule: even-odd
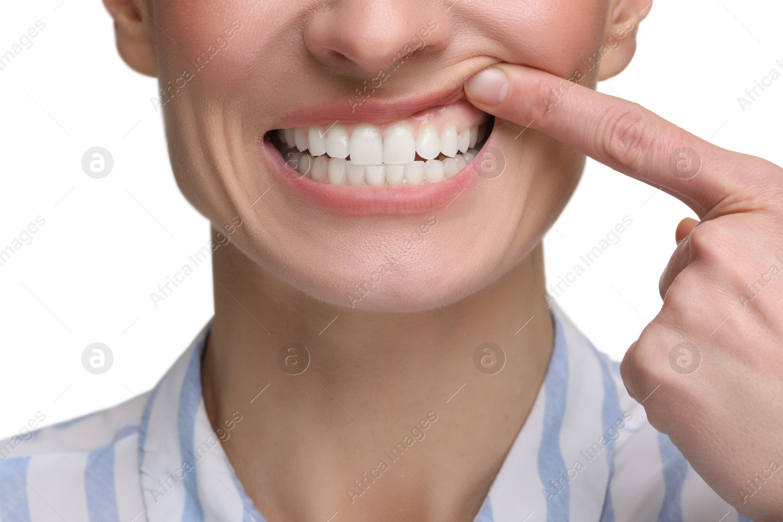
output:
[[[550,359],[540,244],[478,293],[417,313],[316,301],[233,243],[215,251],[213,266],[207,416],[218,436],[228,435],[221,436],[226,454],[267,520],[326,520],[336,510],[361,520],[391,506],[399,512],[391,520],[439,520],[442,510],[428,495],[449,520],[471,520]],[[483,373],[474,365],[477,347],[488,342],[505,355],[494,374],[498,353],[481,351]],[[234,412],[242,420],[226,431]],[[426,422],[428,414],[438,420]],[[390,452],[407,435],[405,458]]]

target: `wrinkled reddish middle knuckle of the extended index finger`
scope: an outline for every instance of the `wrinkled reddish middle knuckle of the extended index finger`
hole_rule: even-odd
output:
[[[606,111],[597,137],[599,150],[627,167],[638,169],[655,146],[657,136],[638,103],[616,103]]]

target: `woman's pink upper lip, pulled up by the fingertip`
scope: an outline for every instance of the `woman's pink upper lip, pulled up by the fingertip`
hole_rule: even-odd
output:
[[[316,105],[303,106],[284,118],[284,124],[277,128],[306,127],[309,125],[331,125],[337,121],[346,123],[386,123],[402,120],[422,110],[455,103],[465,97],[462,83],[456,87],[390,97],[384,95],[383,87],[371,93],[369,98],[346,95]],[[362,101],[363,100],[363,101]],[[352,103],[355,105],[352,106]]]

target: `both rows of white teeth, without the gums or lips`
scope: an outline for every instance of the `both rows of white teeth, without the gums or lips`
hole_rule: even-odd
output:
[[[277,131],[287,164],[302,175],[330,185],[371,186],[449,179],[475,157],[473,147],[484,134],[484,124],[462,131],[447,124],[440,132],[428,124],[418,135],[406,124],[391,126],[385,136],[369,124],[355,125],[352,131],[341,124],[327,131],[317,126]]]

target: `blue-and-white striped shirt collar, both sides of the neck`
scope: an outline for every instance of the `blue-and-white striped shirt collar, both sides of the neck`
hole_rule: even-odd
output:
[[[556,304],[551,311],[554,350],[547,375],[478,522],[518,522],[536,511],[560,513],[567,520],[574,505],[579,514],[571,513],[572,520],[601,517],[614,446],[608,440],[596,452],[594,443],[601,437],[605,441],[607,428],[622,416],[619,376],[616,365]],[[210,327],[168,370],[146,406],[139,470],[150,522],[264,520],[236,478],[204,409],[200,366]]]

